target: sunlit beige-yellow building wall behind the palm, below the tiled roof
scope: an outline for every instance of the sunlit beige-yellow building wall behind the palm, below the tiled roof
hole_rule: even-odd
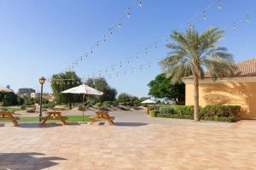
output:
[[[241,105],[241,118],[256,119],[256,81],[254,82],[253,79],[245,77],[235,81],[201,81],[200,105]],[[186,105],[194,105],[194,85],[192,81],[184,82],[186,83]]]

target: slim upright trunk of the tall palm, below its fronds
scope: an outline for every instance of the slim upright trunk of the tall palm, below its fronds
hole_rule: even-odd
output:
[[[194,121],[199,122],[199,79],[195,76],[194,80]]]

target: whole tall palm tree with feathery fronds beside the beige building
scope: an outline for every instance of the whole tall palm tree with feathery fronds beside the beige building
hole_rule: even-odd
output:
[[[160,61],[162,70],[172,82],[193,75],[194,78],[194,120],[199,121],[199,80],[204,78],[204,68],[210,72],[213,80],[231,76],[234,72],[234,59],[227,49],[218,47],[217,42],[224,37],[224,31],[209,28],[201,35],[194,27],[185,32],[173,31],[174,43],[166,44],[171,48],[166,59]]]

